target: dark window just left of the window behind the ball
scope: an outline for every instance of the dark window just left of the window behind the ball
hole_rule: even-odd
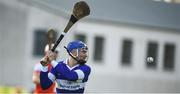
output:
[[[130,65],[132,58],[132,41],[124,40],[122,45],[122,55],[121,62],[123,65]]]

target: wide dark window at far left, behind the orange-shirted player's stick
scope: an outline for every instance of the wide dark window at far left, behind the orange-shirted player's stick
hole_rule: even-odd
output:
[[[54,33],[53,42],[55,42],[57,37],[57,33]],[[44,55],[44,47],[48,43],[47,41],[47,30],[46,29],[37,29],[34,32],[34,47],[33,47],[33,55],[35,56],[43,56]]]

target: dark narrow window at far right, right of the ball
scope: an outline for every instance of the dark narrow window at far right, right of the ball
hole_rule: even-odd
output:
[[[164,47],[164,69],[174,69],[175,45],[166,44]]]

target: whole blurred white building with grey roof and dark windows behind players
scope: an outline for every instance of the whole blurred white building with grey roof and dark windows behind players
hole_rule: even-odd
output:
[[[54,28],[60,35],[75,2],[0,1],[1,86],[33,89],[32,70],[43,57],[45,33]],[[180,92],[180,5],[151,0],[87,3],[91,15],[75,24],[59,45],[61,59],[70,40],[87,43],[92,74],[86,92]],[[146,61],[149,56],[153,63]]]

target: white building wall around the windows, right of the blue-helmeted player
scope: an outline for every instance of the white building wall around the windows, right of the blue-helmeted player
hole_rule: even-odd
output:
[[[155,28],[124,25],[81,23],[78,33],[88,37],[90,50],[89,64],[92,67],[87,92],[179,92],[179,33]],[[103,64],[92,59],[93,42],[96,35],[105,37]],[[120,64],[123,39],[133,40],[132,66]],[[156,41],[159,46],[157,69],[147,69],[145,56],[148,41]],[[176,45],[175,71],[163,70],[163,47],[165,43]]]

